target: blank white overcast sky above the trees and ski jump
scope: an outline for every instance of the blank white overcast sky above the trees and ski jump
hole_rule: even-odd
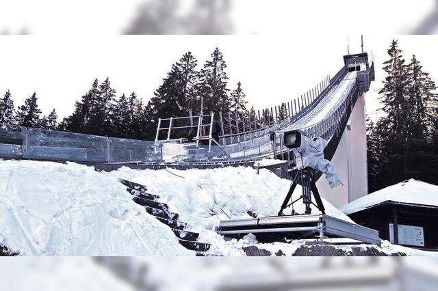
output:
[[[350,53],[360,52],[360,35],[350,35]],[[375,119],[377,90],[384,78],[381,63],[392,40],[405,58],[412,53],[438,79],[437,36],[364,36],[365,51],[376,61],[376,81],[367,94],[368,114]],[[16,105],[37,92],[44,114],[73,112],[75,100],[95,78],[110,77],[120,94],[135,91],[144,101],[153,96],[172,63],[192,51],[203,66],[218,46],[227,61],[229,88],[242,81],[255,109],[278,105],[311,89],[343,65],[347,34],[294,36],[0,36],[0,94],[11,90]]]

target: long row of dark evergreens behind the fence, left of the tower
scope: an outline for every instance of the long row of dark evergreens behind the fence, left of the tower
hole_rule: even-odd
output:
[[[75,102],[73,113],[59,124],[54,109],[47,117],[40,117],[36,94],[15,111],[11,94],[7,92],[0,99],[0,122],[90,135],[153,140],[160,117],[188,116],[190,110],[193,115],[198,115],[201,105],[204,114],[231,111],[233,118],[235,112],[252,113],[251,116],[255,116],[253,109],[248,111],[246,108],[248,102],[242,83],[238,82],[232,92],[227,87],[227,64],[218,48],[202,68],[198,68],[197,63],[192,53],[183,54],[179,61],[172,64],[162,85],[146,105],[136,92],[129,96],[117,96],[109,78],[103,82],[95,79],[88,92]],[[248,124],[248,114],[237,114],[239,124],[242,118]],[[229,130],[227,122],[224,122],[224,126]],[[232,122],[232,127],[235,130],[235,122]]]

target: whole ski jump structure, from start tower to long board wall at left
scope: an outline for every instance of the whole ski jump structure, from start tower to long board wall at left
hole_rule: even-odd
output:
[[[327,77],[300,98],[261,113],[194,116],[190,112],[188,117],[162,118],[155,141],[3,124],[0,158],[75,161],[99,169],[254,165],[263,158],[292,165],[293,154],[283,146],[282,135],[300,129],[309,137],[329,141],[324,156],[335,165],[344,186],[329,189],[322,179],[317,185],[324,198],[342,206],[368,192],[364,93],[373,80],[374,64],[367,53],[345,55],[344,66],[334,77]],[[191,141],[186,139],[189,130],[196,133]]]

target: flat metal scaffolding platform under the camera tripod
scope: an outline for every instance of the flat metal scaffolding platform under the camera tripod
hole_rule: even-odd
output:
[[[230,238],[254,234],[260,243],[305,238],[350,238],[381,246],[378,231],[326,214],[285,215],[220,221],[216,232]]]

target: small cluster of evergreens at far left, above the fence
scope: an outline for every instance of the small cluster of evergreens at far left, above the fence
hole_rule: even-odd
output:
[[[36,93],[25,100],[25,103],[17,109],[14,107],[10,90],[0,98],[0,124],[14,124],[36,128],[57,128],[57,114],[55,109],[49,115],[41,116],[38,108]]]

